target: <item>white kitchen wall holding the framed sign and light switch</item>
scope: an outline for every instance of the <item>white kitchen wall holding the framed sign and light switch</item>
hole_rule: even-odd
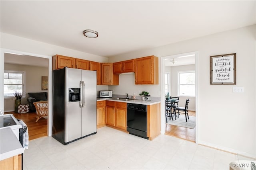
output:
[[[109,61],[198,51],[198,143],[256,155],[255,44],[256,25],[252,25],[114,56]],[[230,53],[236,53],[236,85],[210,85],[210,56]],[[154,85],[152,93],[156,94],[160,87]],[[244,87],[244,93],[233,93],[233,87]],[[130,84],[129,89],[134,88],[136,85]]]

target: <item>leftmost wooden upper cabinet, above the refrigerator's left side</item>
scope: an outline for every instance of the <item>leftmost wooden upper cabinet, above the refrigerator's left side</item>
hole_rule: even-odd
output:
[[[64,67],[75,68],[75,58],[63,55],[52,56],[52,70],[62,69]]]

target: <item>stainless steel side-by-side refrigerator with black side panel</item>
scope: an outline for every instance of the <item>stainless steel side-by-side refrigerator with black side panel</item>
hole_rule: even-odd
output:
[[[52,137],[66,145],[97,133],[96,71],[53,70]]]

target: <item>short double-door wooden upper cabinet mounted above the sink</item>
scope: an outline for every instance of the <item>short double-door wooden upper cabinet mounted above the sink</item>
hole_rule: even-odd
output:
[[[113,63],[113,73],[134,72],[134,59]]]

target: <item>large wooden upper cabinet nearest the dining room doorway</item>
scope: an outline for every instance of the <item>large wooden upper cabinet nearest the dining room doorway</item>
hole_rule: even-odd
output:
[[[135,60],[135,84],[158,84],[158,57],[148,56]]]

